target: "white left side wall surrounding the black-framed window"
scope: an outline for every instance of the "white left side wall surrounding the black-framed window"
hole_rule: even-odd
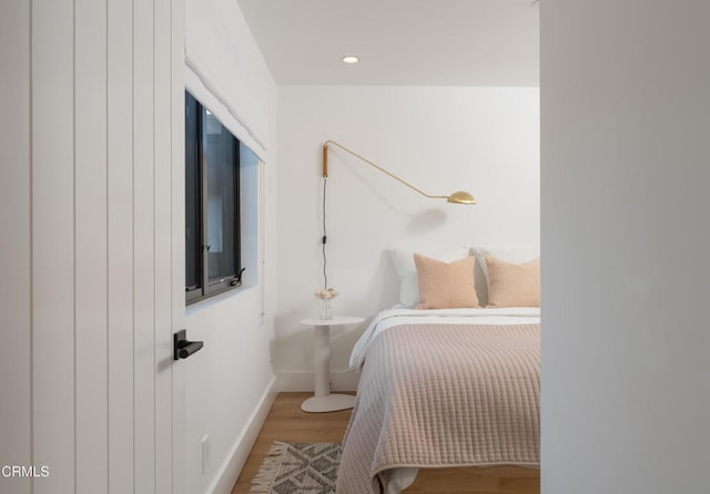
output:
[[[186,364],[186,492],[230,493],[274,397],[271,364],[276,306],[276,85],[234,0],[186,1],[186,51],[217,61],[200,65],[215,99],[233,111],[221,114],[264,159],[243,176],[244,288],[187,308],[187,336],[204,349]],[[211,50],[210,43],[214,44]],[[212,53],[202,56],[201,53]],[[216,54],[216,56],[215,56]],[[201,59],[202,56],[202,59]],[[214,66],[213,66],[214,69]],[[245,120],[244,120],[245,119]],[[234,125],[232,125],[234,124]],[[250,134],[252,130],[254,134]],[[256,132],[257,131],[257,132]],[[202,441],[209,436],[203,469]]]

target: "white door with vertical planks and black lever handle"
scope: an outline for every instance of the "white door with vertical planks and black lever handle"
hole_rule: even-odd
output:
[[[182,493],[182,0],[0,6],[0,492]]]

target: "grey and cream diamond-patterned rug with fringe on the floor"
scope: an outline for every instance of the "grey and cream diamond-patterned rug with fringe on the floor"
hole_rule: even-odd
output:
[[[341,452],[337,443],[274,442],[250,494],[333,494]]]

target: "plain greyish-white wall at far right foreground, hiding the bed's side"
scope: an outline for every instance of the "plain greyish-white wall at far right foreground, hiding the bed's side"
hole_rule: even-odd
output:
[[[708,492],[710,4],[541,16],[542,492]]]

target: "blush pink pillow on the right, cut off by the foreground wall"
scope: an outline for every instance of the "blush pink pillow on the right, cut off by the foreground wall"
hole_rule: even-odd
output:
[[[540,258],[525,264],[486,256],[487,307],[540,307]]]

